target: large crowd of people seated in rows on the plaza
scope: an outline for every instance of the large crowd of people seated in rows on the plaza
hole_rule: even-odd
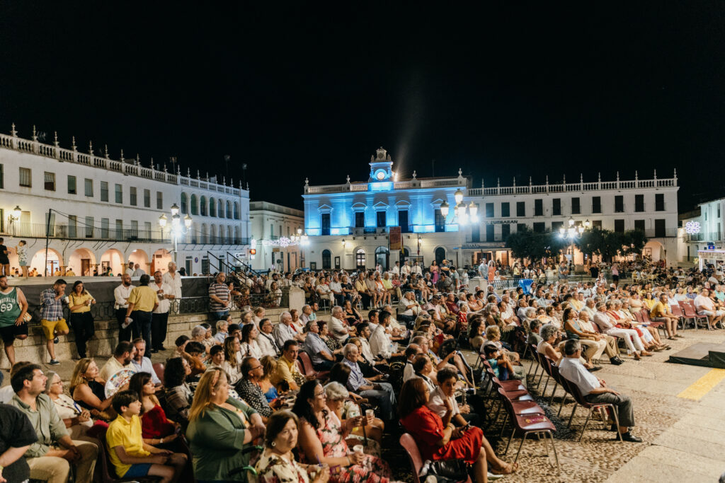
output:
[[[462,459],[485,482],[518,466],[481,430],[486,406],[467,392],[479,381],[459,345],[481,353],[500,380],[522,384],[521,348],[534,345],[584,398],[615,404],[615,429],[636,442],[631,400],[592,372],[604,356],[618,365],[622,353],[639,360],[670,349],[685,322],[679,303],[692,303],[711,328],[725,316],[715,267],[639,269],[643,283],[634,284],[598,277],[498,291],[468,290],[448,265],[394,268],[277,277],[310,292],[301,311],[277,319],[245,308],[239,319],[199,324],[175,340],[159,374],[142,338],[118,343],[101,367],[81,358],[67,385],[41,366],[15,363],[0,409],[8,421],[19,416],[6,405],[27,416],[27,424],[17,419],[16,437],[27,447],[19,458],[28,476],[65,482],[72,471],[75,481],[91,481],[105,454],[109,471],[127,479],[246,481],[255,473],[270,483],[386,482],[381,442],[402,428],[424,459]],[[325,314],[315,293],[331,295]],[[132,375],[107,397],[119,374]]]

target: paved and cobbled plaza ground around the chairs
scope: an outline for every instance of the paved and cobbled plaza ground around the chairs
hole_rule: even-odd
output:
[[[687,330],[685,338],[670,341],[672,350],[655,353],[653,357],[634,361],[625,357],[625,364],[611,366],[607,362],[597,376],[611,387],[629,394],[634,400],[637,427],[634,434],[645,442],[615,442],[615,433],[602,430],[600,421],[590,421],[581,443],[576,440],[584,424],[587,411],[578,409],[572,428],[566,429],[571,414],[571,397],[567,398],[562,419],[557,419],[560,395],[558,390],[550,417],[560,428],[555,435],[560,472],[553,466],[553,455],[547,459],[544,443],[529,440],[523,448],[515,475],[506,476],[504,482],[716,482],[725,471],[725,370],[668,364],[671,353],[698,342],[725,341],[722,330]],[[162,362],[171,352],[152,355],[154,362]],[[466,356],[473,361],[475,354]],[[102,366],[105,358],[99,358]],[[529,361],[524,361],[528,367]],[[73,361],[60,366],[48,366],[67,381]],[[7,371],[5,372],[7,376]],[[545,380],[545,378],[544,378]],[[9,383],[5,378],[5,383]],[[529,388],[537,394],[535,384]],[[540,390],[544,387],[542,382]],[[550,395],[551,389],[547,390]],[[549,398],[539,400],[548,403]],[[500,421],[487,430],[487,437],[497,450],[505,448],[508,429],[503,440],[498,439]],[[412,481],[405,454],[397,445],[397,438],[387,437],[384,445],[389,450],[386,460],[391,463],[397,479]],[[518,443],[514,438],[506,461],[513,461]]]

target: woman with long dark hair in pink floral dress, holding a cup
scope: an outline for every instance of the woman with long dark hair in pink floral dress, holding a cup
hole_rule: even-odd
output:
[[[363,423],[363,417],[346,419],[342,424],[326,405],[325,390],[318,380],[299,388],[292,411],[299,417],[300,458],[307,463],[330,466],[333,483],[387,483],[388,464],[372,455],[352,453],[345,437]]]

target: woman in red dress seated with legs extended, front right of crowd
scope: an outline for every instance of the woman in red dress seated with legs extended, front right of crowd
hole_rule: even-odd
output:
[[[400,391],[399,413],[405,430],[418,442],[423,460],[462,459],[473,465],[476,483],[488,481],[486,452],[481,447],[484,432],[478,427],[456,428],[451,424],[452,407],[445,400],[446,413],[441,419],[428,409],[428,386],[418,377],[408,379]]]

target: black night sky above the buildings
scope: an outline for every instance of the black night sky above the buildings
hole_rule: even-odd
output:
[[[155,3],[0,1],[0,130],[202,176],[230,154],[296,207],[378,146],[402,177],[676,168],[680,211],[725,196],[723,1]]]

